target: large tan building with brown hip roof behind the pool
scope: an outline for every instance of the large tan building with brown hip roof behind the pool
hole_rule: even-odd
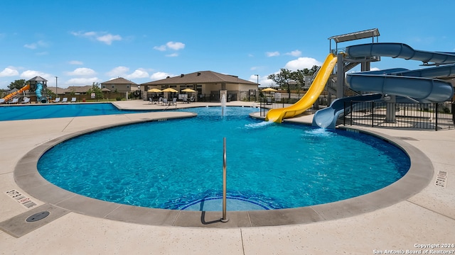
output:
[[[183,89],[196,91],[198,101],[220,101],[220,91],[227,91],[228,101],[248,100],[255,96],[259,84],[240,79],[234,75],[220,74],[212,71],[199,71],[191,74],[181,74],[177,77],[167,77],[158,81],[141,84],[143,98],[151,97],[149,89],[172,88],[178,91],[178,98],[184,95]]]

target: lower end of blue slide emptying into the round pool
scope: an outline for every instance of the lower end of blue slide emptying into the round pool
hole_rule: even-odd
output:
[[[331,103],[328,108],[321,109],[314,114],[313,126],[319,128],[335,129],[336,121],[344,115],[344,104],[350,101],[378,101],[382,97],[381,94],[368,94],[363,96],[350,96],[347,98],[338,98]],[[353,103],[355,111],[361,110],[358,106],[368,106],[367,103]]]

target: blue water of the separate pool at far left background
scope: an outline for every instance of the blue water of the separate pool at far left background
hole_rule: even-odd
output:
[[[147,111],[121,111],[112,105],[112,103],[59,103],[31,106],[1,106],[0,121],[112,115],[141,112]]]

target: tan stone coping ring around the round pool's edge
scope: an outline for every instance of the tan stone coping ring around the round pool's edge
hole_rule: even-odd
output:
[[[184,117],[179,116],[173,118]],[[38,169],[36,168],[38,159],[45,151],[60,142],[86,133],[96,132],[97,130],[148,121],[157,120],[134,120],[127,123],[116,123],[80,130],[38,145],[18,161],[14,169],[14,180],[23,191],[43,201],[43,203],[55,205],[82,215],[144,225],[230,228],[308,224],[311,222],[338,220],[345,217],[361,215],[365,212],[373,212],[400,203],[419,193],[428,186],[434,175],[434,168],[427,155],[407,142],[380,132],[342,127],[340,129],[347,130],[348,132],[363,132],[400,147],[410,157],[411,167],[407,174],[395,183],[363,196],[302,208],[228,211],[229,221],[221,222],[221,212],[141,208],[133,205],[123,205],[88,198],[70,191],[65,191],[63,188],[49,183],[38,173]]]

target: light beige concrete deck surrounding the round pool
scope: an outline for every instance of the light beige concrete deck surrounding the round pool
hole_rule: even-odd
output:
[[[163,109],[144,101],[117,102],[128,109]],[[178,108],[206,106],[209,103],[178,104]],[[212,105],[214,103],[210,103]],[[251,103],[230,102],[228,106]],[[215,105],[215,104],[214,104]],[[219,105],[219,104],[218,104]],[[257,104],[256,104],[257,105]],[[21,217],[33,215],[36,208],[49,210],[48,222],[36,223],[21,237],[0,231],[1,254],[375,254],[385,250],[430,250],[419,244],[455,243],[455,130],[372,131],[417,148],[431,160],[433,173],[418,193],[354,216],[337,220],[269,227],[176,227],[111,220],[77,213],[45,203],[23,191],[15,181],[14,169],[33,149],[51,140],[100,126],[172,118],[173,112],[134,113],[47,120],[0,122],[0,222],[24,224]],[[311,123],[312,115],[292,121]],[[33,163],[33,162],[32,162]],[[440,171],[445,172],[445,177]],[[439,176],[438,176],[439,175]],[[444,179],[438,186],[437,177]],[[444,177],[444,178],[443,178]],[[11,195],[18,191],[37,205],[28,209]],[[399,192],[399,191],[397,191]],[[396,196],[399,196],[397,194]],[[53,194],[49,195],[50,197]],[[395,194],[389,194],[394,198]],[[29,205],[29,204],[28,204]],[[346,208],[349,212],[355,206]],[[96,210],[96,208],[94,208]],[[37,212],[38,212],[37,211]],[[228,217],[230,217],[228,212]],[[317,215],[321,217],[321,215]],[[11,220],[16,219],[16,221]],[[198,219],[200,221],[200,219]],[[232,218],[232,221],[235,219]],[[266,219],[267,220],[267,219]],[[276,220],[274,218],[270,221]],[[28,224],[28,223],[26,223]],[[41,224],[41,225],[40,225]],[[223,224],[223,223],[220,223]],[[1,223],[0,223],[1,225]],[[20,235],[17,234],[17,235]],[[451,250],[449,248],[445,250]],[[433,251],[439,248],[432,249]],[[377,253],[380,254],[380,253]]]

